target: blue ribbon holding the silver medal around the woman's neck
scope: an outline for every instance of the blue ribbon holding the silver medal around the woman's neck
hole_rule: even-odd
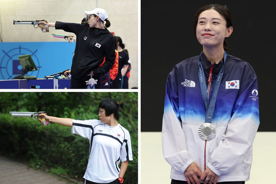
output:
[[[204,75],[203,67],[202,67],[202,64],[200,61],[201,54],[202,54],[202,52],[200,53],[200,55],[198,57],[198,78],[199,78],[201,95],[202,95],[205,110],[206,110],[205,122],[211,123],[212,119],[213,119],[213,115],[214,115],[219,86],[220,86],[221,79],[222,79],[223,72],[224,72],[227,53],[224,51],[224,63],[220,69],[218,76],[217,76],[215,87],[214,87],[210,102],[208,102],[208,92],[207,92],[207,87],[206,87],[206,82],[205,82],[205,75]]]

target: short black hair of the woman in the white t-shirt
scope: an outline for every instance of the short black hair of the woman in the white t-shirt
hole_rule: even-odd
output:
[[[119,119],[119,107],[123,108],[123,104],[117,103],[113,99],[104,99],[99,104],[99,109],[104,109],[106,116],[114,114],[116,120]]]

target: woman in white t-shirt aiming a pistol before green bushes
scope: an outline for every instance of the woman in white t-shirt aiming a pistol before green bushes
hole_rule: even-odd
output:
[[[119,107],[113,99],[99,104],[99,120],[75,120],[48,116],[50,122],[72,127],[72,133],[89,139],[89,159],[84,174],[86,184],[119,184],[123,182],[128,161],[132,160],[129,132],[119,123]],[[41,119],[39,119],[40,122]],[[118,164],[121,161],[121,168]]]

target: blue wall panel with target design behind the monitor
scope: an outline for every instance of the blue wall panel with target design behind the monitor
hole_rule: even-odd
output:
[[[21,72],[22,67],[18,61],[20,55],[31,55],[38,71],[29,72],[27,75],[35,75],[37,78],[70,69],[75,46],[76,43],[68,42],[2,42],[0,80],[11,79]]]

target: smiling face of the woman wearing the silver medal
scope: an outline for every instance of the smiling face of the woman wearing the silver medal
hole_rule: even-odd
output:
[[[226,27],[226,20],[216,10],[201,12],[197,20],[197,40],[203,47],[222,47],[225,37],[230,37],[233,28]]]

